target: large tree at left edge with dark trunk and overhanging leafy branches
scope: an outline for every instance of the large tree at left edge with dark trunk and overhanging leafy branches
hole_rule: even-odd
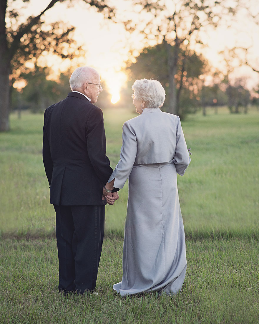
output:
[[[73,58],[79,54],[78,47],[71,37],[74,27],[67,28],[62,22],[54,22],[44,26],[43,15],[57,2],[71,0],[52,0],[36,17],[28,17],[25,23],[15,26],[18,12],[11,6],[16,0],[0,1],[0,131],[8,131],[11,86],[14,80],[26,70],[25,62],[31,60],[35,64],[43,51],[61,55],[62,58]],[[28,2],[29,0],[23,0]],[[107,5],[107,0],[81,0],[89,6],[96,7],[104,17],[114,16],[113,8]],[[9,24],[6,24],[9,19]]]

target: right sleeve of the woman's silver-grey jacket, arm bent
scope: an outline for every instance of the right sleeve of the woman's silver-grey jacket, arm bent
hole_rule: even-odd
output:
[[[175,156],[173,158],[173,162],[175,164],[176,172],[181,176],[183,176],[188,165],[191,162],[191,158],[187,150],[187,145],[185,142],[180,118],[178,116],[177,118],[178,118],[178,124],[176,129],[176,146],[175,146]]]

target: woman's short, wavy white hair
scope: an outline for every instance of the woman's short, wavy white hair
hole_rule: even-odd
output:
[[[141,79],[133,83],[132,90],[138,100],[146,102],[145,108],[162,107],[165,92],[162,84],[157,80]]]

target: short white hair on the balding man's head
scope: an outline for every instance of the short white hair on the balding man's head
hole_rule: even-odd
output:
[[[83,86],[85,82],[96,82],[96,78],[99,77],[99,73],[90,66],[81,66],[74,70],[72,73],[69,84],[70,89],[76,90]]]

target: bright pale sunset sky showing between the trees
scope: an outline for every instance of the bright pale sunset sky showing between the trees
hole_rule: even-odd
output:
[[[171,3],[170,0],[164,1],[168,5]],[[30,0],[29,3],[24,4],[21,0],[16,0],[15,6],[22,13],[20,22],[30,15],[38,15],[49,3],[50,0]],[[121,20],[123,18],[134,19],[134,17],[139,19],[139,16],[132,11],[131,0],[110,0],[110,3],[118,8],[118,17]],[[254,15],[259,15],[259,1],[249,0],[249,3],[251,12]],[[27,7],[22,8],[23,6]],[[59,72],[66,71],[69,65],[95,67],[100,73],[101,80],[105,81],[112,100],[116,102],[119,99],[121,88],[127,82],[124,69],[125,62],[129,59],[129,52],[132,52],[133,56],[137,56],[145,46],[141,34],[127,33],[122,23],[104,19],[101,13],[96,12],[95,8],[89,7],[80,0],[73,0],[70,7],[67,7],[66,2],[57,3],[45,13],[44,18],[47,24],[62,20],[67,25],[75,26],[74,39],[83,46],[85,54],[73,61],[62,61],[60,58],[53,59],[49,55],[45,55],[42,56],[39,63],[51,66],[52,77],[58,75]],[[149,19],[149,17],[143,16],[143,19]],[[215,69],[218,68],[223,72],[225,72],[225,66],[222,56],[219,55],[221,51],[235,45],[249,47],[249,62],[259,69],[259,26],[254,24],[242,9],[239,10],[235,21],[229,19],[228,17],[222,19],[217,30],[206,29],[201,33],[201,38],[206,44],[205,47],[200,48],[197,44],[193,46],[197,51],[202,52]],[[231,63],[234,65],[235,62],[232,61]],[[244,77],[246,86],[250,89],[259,84],[259,74],[247,66],[236,68],[233,74],[233,78],[235,77]]]

